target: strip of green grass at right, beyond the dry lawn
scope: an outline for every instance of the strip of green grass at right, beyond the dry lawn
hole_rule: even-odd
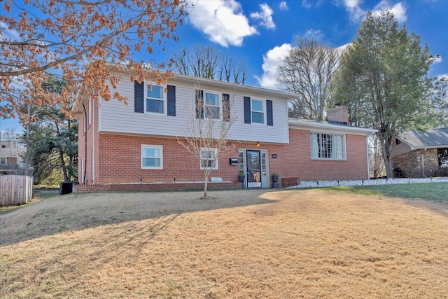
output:
[[[433,202],[448,202],[448,183],[408,183],[378,186],[339,186],[332,190],[348,191],[364,195],[418,198]]]

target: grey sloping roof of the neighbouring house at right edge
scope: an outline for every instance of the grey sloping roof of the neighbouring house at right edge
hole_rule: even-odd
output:
[[[433,129],[427,132],[419,130],[406,131],[397,138],[414,148],[448,147],[448,128]]]

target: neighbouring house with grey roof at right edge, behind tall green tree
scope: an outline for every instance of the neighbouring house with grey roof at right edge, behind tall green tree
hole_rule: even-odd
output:
[[[392,144],[395,176],[448,175],[448,128],[407,131]]]

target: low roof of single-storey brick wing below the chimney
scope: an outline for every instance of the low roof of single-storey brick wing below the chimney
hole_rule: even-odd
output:
[[[304,130],[325,130],[325,132],[348,133],[356,135],[370,135],[378,132],[375,129],[367,127],[354,127],[353,125],[344,125],[342,123],[328,123],[322,120],[306,120],[301,118],[289,118],[288,125],[292,129]]]

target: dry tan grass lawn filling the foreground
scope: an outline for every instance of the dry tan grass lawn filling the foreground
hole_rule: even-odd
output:
[[[0,214],[0,298],[448,298],[447,204],[210,195],[65,195]]]

